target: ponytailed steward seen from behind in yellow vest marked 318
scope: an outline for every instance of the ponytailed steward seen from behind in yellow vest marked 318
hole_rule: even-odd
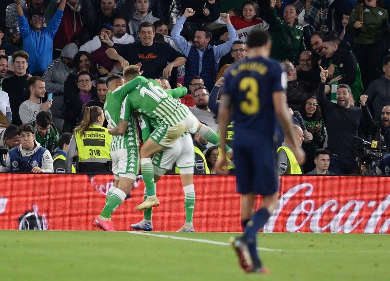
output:
[[[110,144],[112,136],[104,122],[103,110],[86,107],[83,120],[76,127],[66,153],[66,172],[71,171],[75,151],[78,150],[78,172],[108,173],[111,171]]]

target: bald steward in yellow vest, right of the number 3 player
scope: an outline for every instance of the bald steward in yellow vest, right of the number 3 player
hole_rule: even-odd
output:
[[[294,136],[296,137],[296,140],[302,146],[304,136],[301,127],[296,125],[292,125],[292,127],[295,132]],[[282,145],[277,149],[278,175],[302,174],[302,170],[299,167],[294,151],[292,150],[292,144],[293,140],[286,136]]]

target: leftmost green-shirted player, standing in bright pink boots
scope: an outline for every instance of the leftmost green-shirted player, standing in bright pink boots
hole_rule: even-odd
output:
[[[129,105],[124,106],[128,93],[124,79],[113,75],[108,77],[106,84],[109,93],[104,103],[104,114],[110,126],[108,132],[114,135],[110,154],[115,180],[107,192],[106,204],[95,219],[94,225],[106,231],[114,231],[111,214],[126,198],[137,179],[139,144],[132,109]]]

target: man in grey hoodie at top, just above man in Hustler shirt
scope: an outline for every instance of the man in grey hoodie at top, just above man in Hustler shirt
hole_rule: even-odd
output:
[[[159,20],[156,17],[153,17],[152,12],[149,11],[149,0],[136,0],[136,11],[134,12],[133,18],[129,21],[130,35],[134,37],[136,42],[140,40],[139,38],[139,26],[142,22],[149,21],[154,23]]]

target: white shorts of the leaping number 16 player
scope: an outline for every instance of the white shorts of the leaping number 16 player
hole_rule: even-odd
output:
[[[190,112],[183,120],[174,126],[160,125],[150,135],[158,145],[172,148],[184,132],[195,133],[198,130],[199,121]]]

